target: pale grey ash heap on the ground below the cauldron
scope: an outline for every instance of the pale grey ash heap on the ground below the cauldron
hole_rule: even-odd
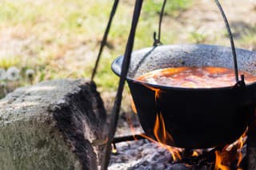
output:
[[[113,153],[110,160],[110,170],[205,170],[212,169],[213,164],[187,165],[174,163],[169,151],[160,148],[148,140],[137,140],[117,144],[117,153]]]

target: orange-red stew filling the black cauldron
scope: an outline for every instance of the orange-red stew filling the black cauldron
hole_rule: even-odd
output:
[[[239,71],[245,75],[246,83],[256,81],[250,73]],[[168,85],[183,88],[216,88],[233,86],[236,81],[234,69],[222,67],[177,67],[158,69],[137,78],[138,81],[154,85]]]

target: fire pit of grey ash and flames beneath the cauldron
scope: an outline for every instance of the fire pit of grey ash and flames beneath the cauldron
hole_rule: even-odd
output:
[[[134,136],[137,140],[127,141],[123,139],[123,134],[142,131],[138,126],[138,121],[134,119],[136,115],[126,113],[118,121],[117,137],[114,139],[113,152],[111,154],[108,169],[254,169],[247,168],[248,142],[246,133],[224,148],[207,149],[186,149],[174,148],[150,140],[139,140],[139,136]],[[128,121],[132,119],[133,121]],[[128,123],[128,124],[127,124]],[[120,136],[121,135],[121,136]],[[118,137],[119,136],[119,137]],[[123,140],[121,140],[123,139]],[[122,142],[120,142],[122,141]],[[117,143],[115,143],[117,142]],[[120,142],[120,143],[119,143]],[[250,140],[252,142],[252,140]],[[250,144],[249,144],[250,145]],[[251,146],[249,147],[251,148]],[[250,149],[249,149],[250,150]],[[255,164],[254,162],[250,164]]]

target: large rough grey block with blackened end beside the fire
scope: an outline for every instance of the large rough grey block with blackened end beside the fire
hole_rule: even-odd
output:
[[[56,80],[0,101],[0,169],[97,169],[106,112],[94,82]]]

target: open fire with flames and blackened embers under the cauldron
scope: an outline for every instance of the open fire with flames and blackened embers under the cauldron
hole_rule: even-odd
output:
[[[128,118],[127,121],[130,125],[131,132],[134,132],[134,126],[132,121]],[[197,164],[198,166],[207,165],[206,169],[214,170],[242,170],[242,160],[246,156],[244,144],[246,143],[246,132],[236,140],[233,144],[227,144],[223,148],[207,148],[207,149],[186,149],[186,148],[175,148],[170,145],[173,141],[172,136],[166,132],[165,123],[162,114],[158,114],[154,125],[155,139],[150,136],[142,135],[152,143],[157,144],[158,148],[167,150],[170,153],[171,164],[185,164],[187,169]],[[135,139],[137,140],[137,139]],[[114,150],[118,152],[118,150]],[[210,168],[209,168],[210,167]]]

